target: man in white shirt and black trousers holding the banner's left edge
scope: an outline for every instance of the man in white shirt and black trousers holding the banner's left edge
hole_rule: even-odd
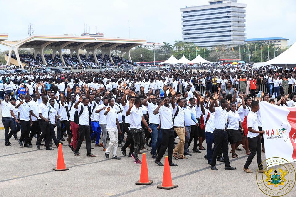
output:
[[[257,112],[259,110],[259,103],[256,101],[252,101],[251,104],[251,111],[249,112],[247,116],[247,125],[248,125],[248,139],[249,139],[249,145],[251,148],[251,153],[248,156],[248,159],[243,167],[243,170],[247,173],[251,173],[252,171],[249,169],[249,166],[254,158],[254,156],[257,154],[257,164],[258,164],[258,172],[264,173],[265,170],[262,166],[262,158],[261,158],[261,139],[260,134],[264,134],[265,131],[259,131],[258,128],[258,117]]]

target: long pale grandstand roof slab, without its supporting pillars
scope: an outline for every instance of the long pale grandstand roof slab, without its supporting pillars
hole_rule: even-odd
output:
[[[46,48],[52,49],[59,49],[61,46],[63,46],[63,49],[74,49],[82,45],[82,47],[79,47],[80,49],[90,49],[96,45],[99,46],[98,49],[101,49],[116,45],[113,49],[120,50],[146,44],[146,40],[69,35],[33,35],[24,40],[2,41],[0,44],[6,46],[17,45],[19,48],[37,48],[46,45]]]

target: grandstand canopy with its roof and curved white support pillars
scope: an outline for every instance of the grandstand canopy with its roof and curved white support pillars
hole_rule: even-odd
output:
[[[52,49],[53,57],[55,53],[58,51],[60,54],[60,58],[63,64],[65,64],[64,58],[62,56],[62,50],[68,49],[70,50],[70,55],[75,51],[79,63],[80,60],[80,50],[87,51],[87,57],[89,52],[95,54],[96,49],[100,49],[102,51],[102,56],[108,54],[111,58],[111,50],[120,50],[121,55],[124,53],[128,54],[129,60],[130,50],[138,45],[146,44],[146,40],[138,40],[138,39],[122,39],[122,38],[106,38],[106,37],[97,37],[97,36],[76,36],[76,35],[32,35],[24,40],[18,41],[1,41],[0,44],[6,45],[9,47],[9,57],[7,60],[7,64],[9,63],[9,59],[11,57],[12,51],[15,52],[17,57],[17,61],[19,66],[22,66],[22,63],[19,58],[18,50],[19,49],[34,49],[34,58],[36,58],[39,53],[42,57],[43,64],[46,64],[46,60],[44,58],[44,49]],[[98,60],[94,55],[94,59],[96,63]],[[113,63],[112,58],[110,59]]]

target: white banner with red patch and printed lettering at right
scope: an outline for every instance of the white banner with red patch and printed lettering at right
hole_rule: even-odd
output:
[[[279,157],[296,161],[296,107],[260,102],[266,159]]]

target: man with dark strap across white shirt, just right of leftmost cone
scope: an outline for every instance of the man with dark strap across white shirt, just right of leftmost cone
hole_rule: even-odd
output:
[[[82,102],[82,104],[80,104]],[[88,98],[80,97],[79,101],[74,105],[74,108],[77,109],[78,115],[79,115],[79,139],[77,141],[77,147],[74,150],[75,156],[80,156],[79,150],[81,147],[81,144],[85,137],[86,142],[86,156],[87,157],[95,157],[91,153],[91,139],[90,139],[90,126],[89,126],[89,107],[88,107],[89,100]],[[83,111],[82,111],[83,110]]]

